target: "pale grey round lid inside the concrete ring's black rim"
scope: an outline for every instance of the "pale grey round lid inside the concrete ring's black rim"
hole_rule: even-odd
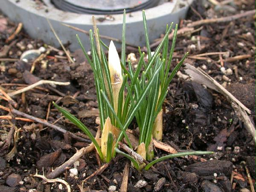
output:
[[[120,14],[148,9],[159,0],[52,0],[52,3],[66,12],[85,14]]]

